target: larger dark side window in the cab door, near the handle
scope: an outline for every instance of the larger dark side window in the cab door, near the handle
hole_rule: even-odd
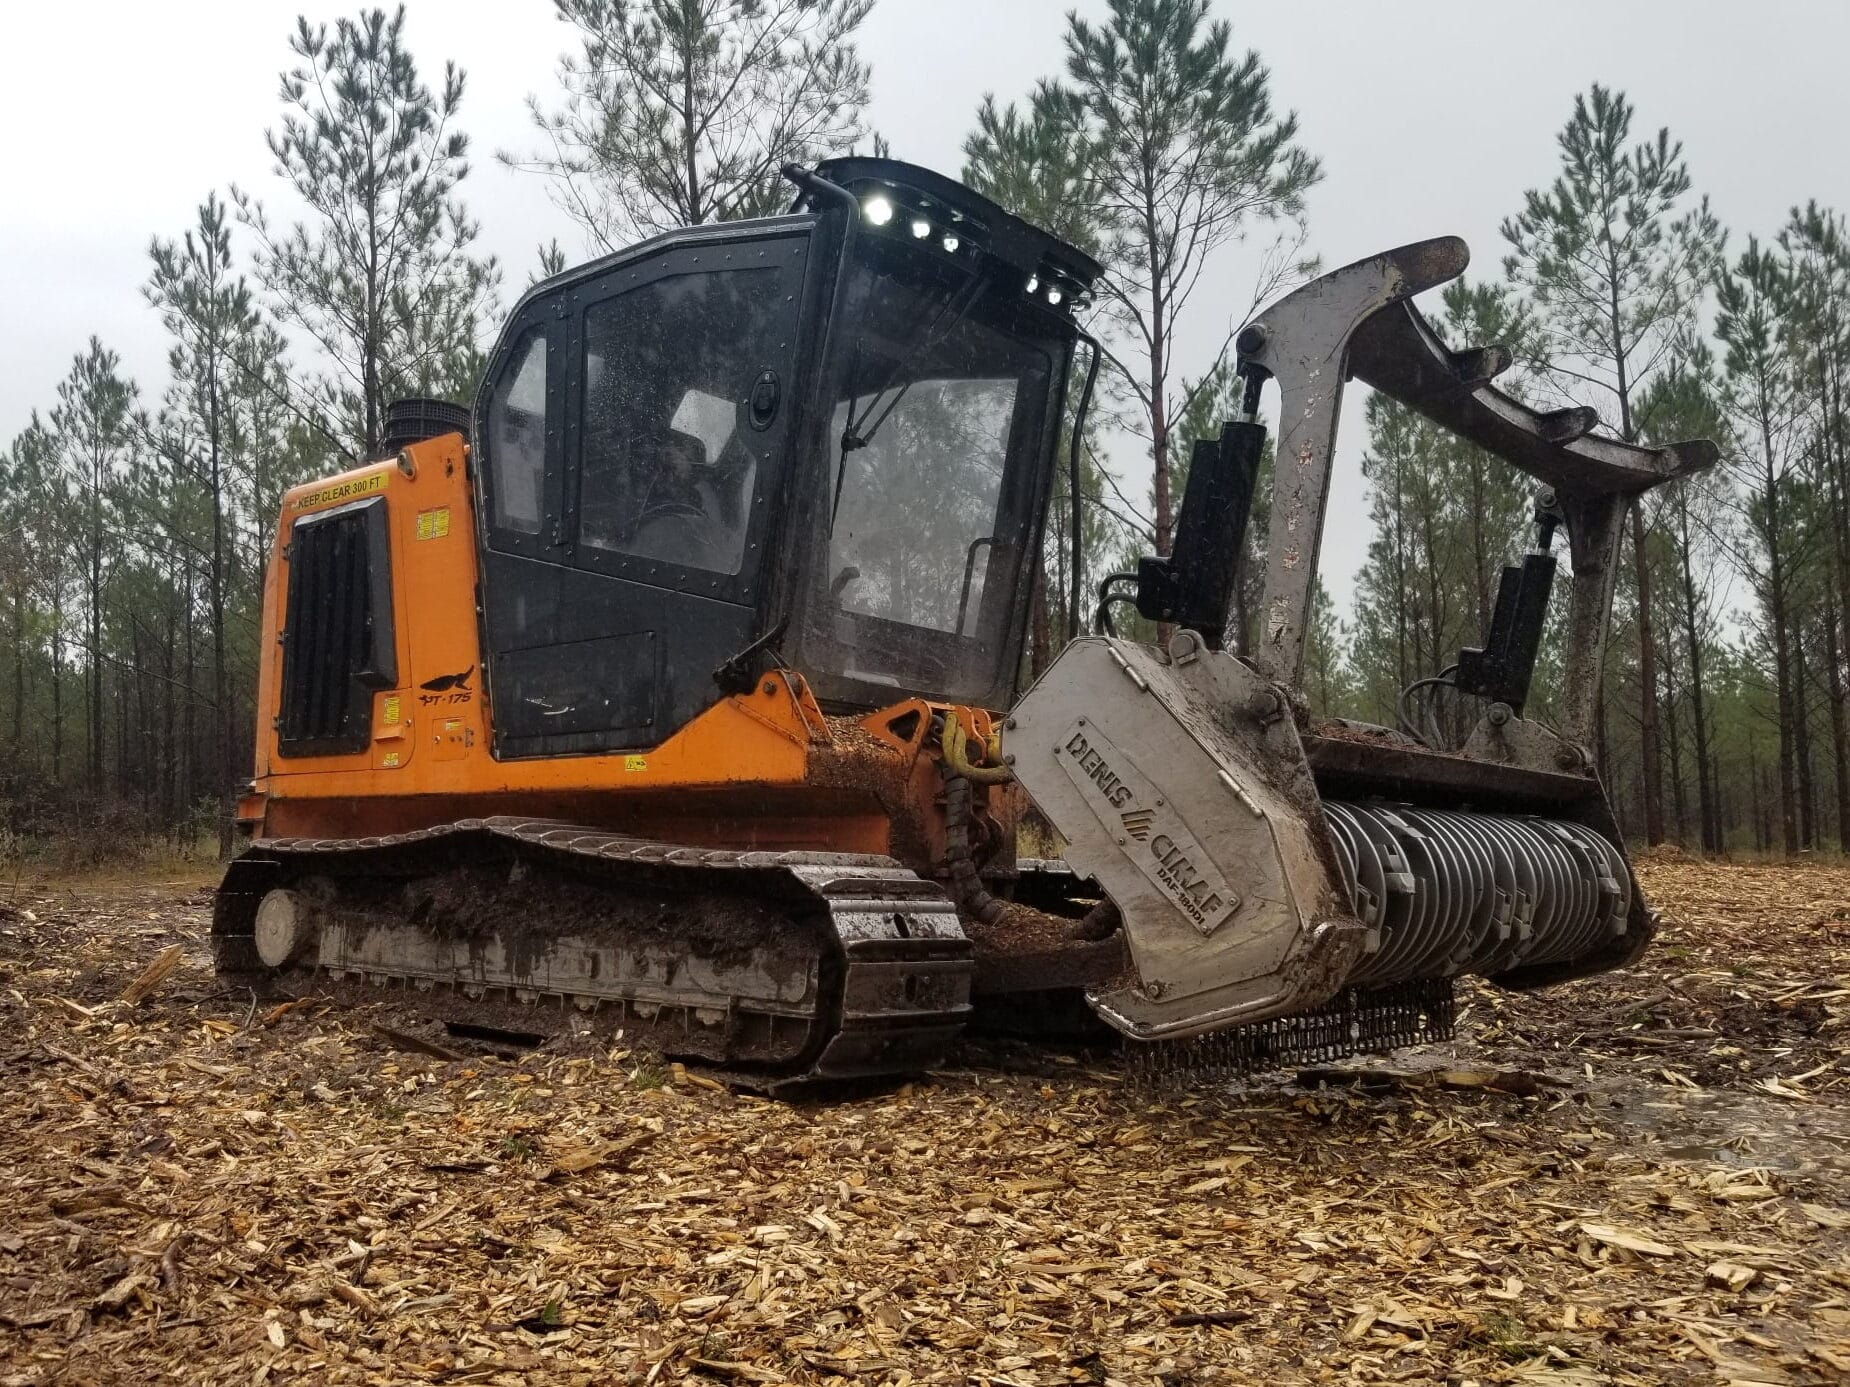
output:
[[[585,313],[579,546],[738,573],[779,412],[783,276],[681,274]]]

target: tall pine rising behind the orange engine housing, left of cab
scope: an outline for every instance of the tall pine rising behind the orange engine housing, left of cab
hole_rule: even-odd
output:
[[[457,187],[468,137],[455,129],[464,74],[440,92],[405,48],[403,6],[327,26],[296,20],[300,63],[283,74],[283,124],[268,133],[276,172],[307,203],[283,231],[231,190],[257,237],[253,266],[272,313],[322,351],[313,403],[353,459],[381,451],[385,405],[400,394],[468,399],[500,268],[470,246],[477,226]]]

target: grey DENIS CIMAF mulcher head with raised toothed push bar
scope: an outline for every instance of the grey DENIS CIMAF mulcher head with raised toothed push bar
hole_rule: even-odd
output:
[[[1106,634],[1073,642],[1016,706],[1006,745],[1029,795],[1123,914],[1128,973],[1090,993],[1136,1039],[1227,1032],[1236,1065],[1449,1034],[1449,980],[1524,988],[1619,967],[1652,934],[1587,751],[1597,679],[1560,729],[1523,718],[1552,592],[1572,566],[1567,666],[1597,671],[1626,507],[1708,466],[1708,442],[1637,448],[1591,409],[1537,412],[1497,390],[1502,348],[1454,351],[1413,294],[1463,272],[1458,239],[1336,270],[1238,338],[1247,418],[1197,449],[1177,549],[1106,583]],[[1343,385],[1360,379],[1541,485],[1537,553],[1506,571],[1482,649],[1423,684],[1471,701],[1452,738],[1314,725],[1301,671]],[[1256,647],[1221,649],[1251,468],[1276,381],[1282,420]],[[1136,584],[1130,592],[1114,584]],[[1117,640],[1134,601],[1177,623]],[[1413,690],[1410,690],[1412,694]],[[1454,719],[1456,721],[1456,719]],[[1443,993],[1443,995],[1441,995]]]

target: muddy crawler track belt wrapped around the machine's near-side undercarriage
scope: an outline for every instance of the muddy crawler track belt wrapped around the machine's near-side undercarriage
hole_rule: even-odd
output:
[[[703,849],[586,829],[557,819],[459,819],[379,838],[270,838],[253,843],[226,873],[213,912],[213,943],[222,976],[263,986],[278,975],[257,958],[252,925],[272,886],[300,878],[314,864],[376,869],[418,865],[440,871],[470,843],[501,840],[524,856],[616,869],[623,865],[686,873],[694,890],[753,891],[827,910],[834,965],[821,969],[816,1039],[797,1065],[758,1074],[762,1087],[790,1087],[884,1074],[906,1074],[944,1062],[969,1017],[971,943],[956,906],[938,888],[894,858],[853,853],[768,853]],[[736,873],[736,875],[734,875]],[[396,875],[396,873],[394,873]],[[803,912],[808,914],[808,912]],[[455,991],[455,989],[451,989]],[[564,1002],[594,999],[561,999]],[[466,1012],[466,1002],[459,1012]],[[464,1019],[464,1017],[459,1017]],[[672,1047],[670,1047],[672,1050]]]

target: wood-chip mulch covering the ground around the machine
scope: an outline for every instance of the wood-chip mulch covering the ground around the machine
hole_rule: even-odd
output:
[[[0,1385],[1850,1380],[1850,871],[1641,875],[1643,965],[1456,1045],[801,1104],[228,995],[198,884],[0,888]]]

